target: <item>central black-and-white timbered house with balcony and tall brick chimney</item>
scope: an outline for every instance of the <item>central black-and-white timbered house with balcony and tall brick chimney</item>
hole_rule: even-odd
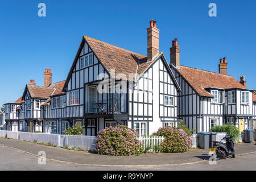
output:
[[[83,36],[62,91],[65,119],[85,135],[115,125],[149,135],[177,125],[180,87],[159,52],[154,20],[147,28],[147,56]]]

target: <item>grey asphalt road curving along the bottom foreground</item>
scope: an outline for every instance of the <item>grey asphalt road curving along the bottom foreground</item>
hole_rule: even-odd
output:
[[[210,165],[208,162],[198,164],[189,164],[183,166],[166,166],[166,167],[97,167],[97,166],[80,166],[72,164],[63,164],[52,161],[46,161],[46,164],[38,164],[36,156],[26,154],[0,146],[0,170],[256,170],[256,154],[237,156],[236,159],[226,159],[217,161],[217,165]]]

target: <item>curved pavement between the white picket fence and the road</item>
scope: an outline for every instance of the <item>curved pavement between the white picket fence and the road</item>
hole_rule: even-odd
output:
[[[179,154],[142,154],[139,156],[107,156],[89,152],[65,150],[14,139],[0,138],[0,146],[29,154],[36,158],[39,151],[46,152],[48,162],[101,167],[166,167],[203,163],[209,159],[209,150],[199,148]],[[256,143],[238,143],[236,156],[256,154]],[[4,155],[2,155],[4,156]]]

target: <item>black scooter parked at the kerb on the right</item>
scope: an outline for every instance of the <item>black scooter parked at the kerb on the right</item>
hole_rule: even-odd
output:
[[[210,153],[214,155],[216,152],[216,159],[226,159],[228,156],[232,156],[232,158],[236,157],[234,151],[234,142],[232,140],[234,136],[226,136],[222,140],[226,140],[226,143],[213,141],[213,147],[210,148]]]

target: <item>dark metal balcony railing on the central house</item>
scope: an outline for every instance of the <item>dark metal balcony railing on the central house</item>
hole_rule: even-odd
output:
[[[95,102],[85,102],[85,113],[127,113],[126,100],[102,100]]]

